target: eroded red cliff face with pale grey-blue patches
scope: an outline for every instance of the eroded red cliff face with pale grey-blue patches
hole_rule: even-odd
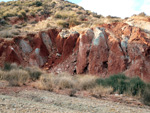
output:
[[[5,62],[101,77],[123,72],[150,81],[150,35],[126,23],[103,24],[82,33],[49,29],[0,39],[0,65]]]

